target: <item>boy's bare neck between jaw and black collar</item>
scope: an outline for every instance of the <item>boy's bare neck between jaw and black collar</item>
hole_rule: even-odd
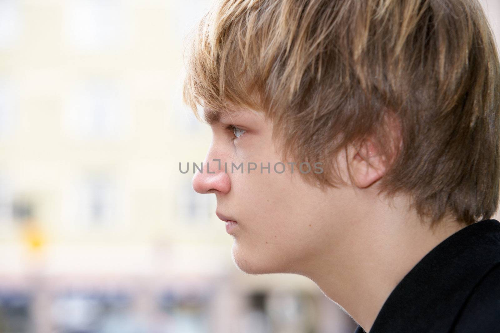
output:
[[[375,212],[377,210],[374,210]],[[326,256],[304,274],[369,332],[389,294],[428,252],[464,225],[440,221],[434,230],[416,214],[392,212],[349,221]]]

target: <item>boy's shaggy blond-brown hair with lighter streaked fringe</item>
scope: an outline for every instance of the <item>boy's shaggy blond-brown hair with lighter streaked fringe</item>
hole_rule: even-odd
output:
[[[370,137],[395,156],[380,192],[410,195],[422,218],[496,211],[500,65],[477,0],[220,0],[186,50],[198,118],[197,106],[260,110],[283,158],[312,163]],[[324,168],[304,176],[345,184]]]

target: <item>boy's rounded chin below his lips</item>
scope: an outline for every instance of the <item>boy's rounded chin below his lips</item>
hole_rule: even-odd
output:
[[[269,256],[260,258],[251,253],[242,250],[236,243],[232,244],[231,257],[234,265],[243,273],[257,275],[257,274],[272,274],[272,273],[290,273],[285,270],[285,263],[272,262]],[[278,256],[284,258],[284,256]]]

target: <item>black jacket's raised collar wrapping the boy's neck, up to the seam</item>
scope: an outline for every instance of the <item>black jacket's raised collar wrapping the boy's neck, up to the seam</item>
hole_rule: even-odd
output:
[[[500,223],[460,229],[427,253],[399,282],[369,333],[447,332],[480,279],[500,263]],[[354,333],[363,333],[358,326]]]

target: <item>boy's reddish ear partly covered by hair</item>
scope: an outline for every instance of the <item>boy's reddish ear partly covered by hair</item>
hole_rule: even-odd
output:
[[[352,182],[365,188],[380,179],[386,172],[386,161],[380,156],[371,139],[362,141],[358,149],[352,148],[347,156]]]

